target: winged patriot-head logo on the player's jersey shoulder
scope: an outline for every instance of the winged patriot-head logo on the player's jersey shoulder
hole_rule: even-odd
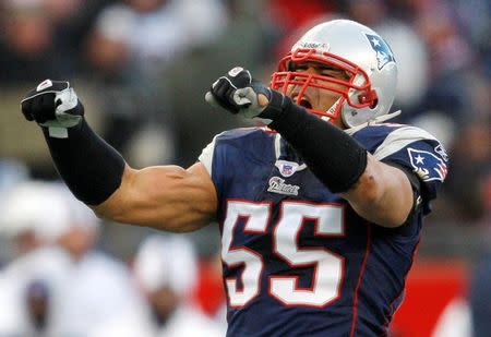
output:
[[[443,159],[430,152],[411,147],[407,149],[407,153],[409,154],[414,171],[423,181],[445,180],[448,169]]]

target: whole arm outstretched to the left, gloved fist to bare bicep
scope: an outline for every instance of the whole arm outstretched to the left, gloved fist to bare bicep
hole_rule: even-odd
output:
[[[63,181],[100,217],[169,231],[213,219],[217,196],[202,164],[131,168],[86,123],[68,82],[43,82],[22,100],[22,112],[41,125]]]

